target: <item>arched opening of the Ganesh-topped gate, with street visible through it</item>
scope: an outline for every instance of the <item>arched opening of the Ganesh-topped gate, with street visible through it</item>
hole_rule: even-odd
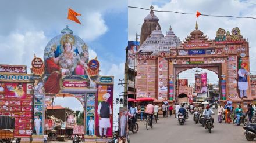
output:
[[[45,100],[45,133],[49,139],[56,138],[56,135],[84,134],[84,101],[84,94],[48,95]]]

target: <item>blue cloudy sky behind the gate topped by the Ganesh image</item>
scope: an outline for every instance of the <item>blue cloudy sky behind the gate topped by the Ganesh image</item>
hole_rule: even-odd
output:
[[[68,8],[81,14],[81,25],[67,20]],[[47,43],[69,25],[87,43],[90,58],[98,56],[101,75],[115,76],[115,96],[123,91],[117,83],[123,79],[127,46],[126,0],[1,1],[0,17],[1,64],[31,67],[34,53],[43,57]],[[70,102],[73,109],[81,108],[73,104],[75,98],[64,103]]]

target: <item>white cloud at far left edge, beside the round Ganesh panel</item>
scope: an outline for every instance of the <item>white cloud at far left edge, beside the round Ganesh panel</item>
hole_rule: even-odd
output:
[[[0,36],[1,64],[27,65],[31,67],[34,54],[43,57],[45,43],[48,41],[43,31],[13,32]]]

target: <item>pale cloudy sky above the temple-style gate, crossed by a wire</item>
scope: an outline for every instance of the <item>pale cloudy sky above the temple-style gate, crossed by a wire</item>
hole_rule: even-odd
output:
[[[128,0],[129,6],[137,6],[149,9],[151,0]],[[249,3],[255,3],[249,4]],[[229,15],[229,16],[248,16],[256,17],[256,1],[235,1],[235,0],[158,0],[153,1],[155,10],[171,10],[176,12],[196,13],[198,10],[201,14],[211,15]],[[149,14],[148,10],[128,8],[128,39],[134,41],[136,32],[140,34],[141,24],[144,23],[144,17]],[[154,12],[159,18],[159,24],[163,34],[169,30],[170,25],[176,36],[183,41],[190,32],[195,30],[195,15],[183,15],[176,13]],[[256,28],[255,19],[232,19],[225,17],[198,17],[198,29],[204,32],[209,39],[214,39],[218,28],[224,28],[225,31],[232,31],[232,28],[239,27],[243,38],[248,39],[250,46],[250,72],[256,74]],[[180,74],[180,78],[188,78],[189,83],[194,83],[194,74],[191,74],[195,69],[184,71]],[[214,72],[204,70],[209,77],[209,83],[217,83],[218,77]],[[193,72],[195,73],[195,72]]]

